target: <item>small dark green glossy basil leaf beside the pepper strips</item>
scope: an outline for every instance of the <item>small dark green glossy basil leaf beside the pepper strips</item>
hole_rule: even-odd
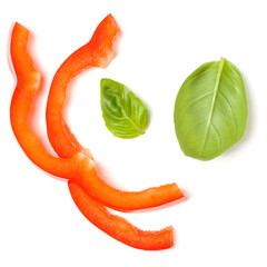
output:
[[[134,138],[145,132],[148,111],[139,98],[126,86],[101,79],[100,103],[107,128],[120,138]]]

